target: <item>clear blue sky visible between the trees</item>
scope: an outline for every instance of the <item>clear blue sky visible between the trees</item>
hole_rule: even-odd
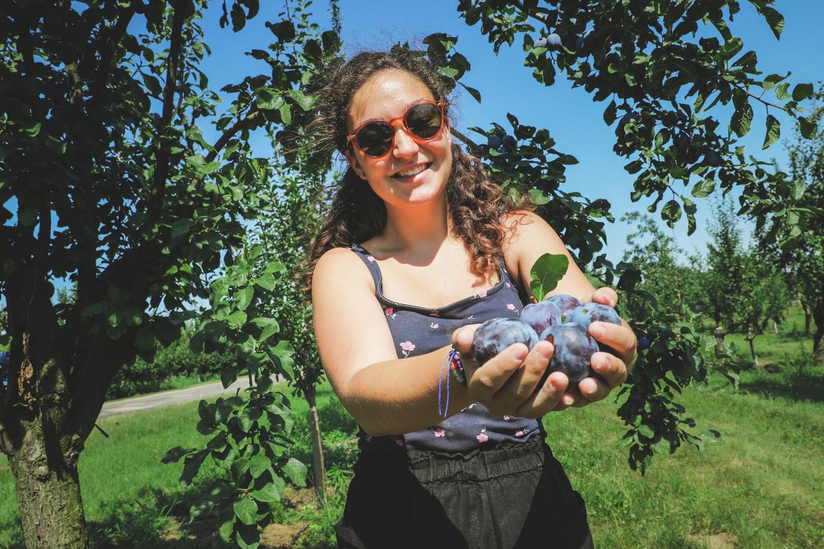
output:
[[[469,95],[457,95],[457,127],[473,125],[488,127],[493,121],[505,122],[507,112],[515,114],[522,123],[539,128],[548,128],[560,151],[578,158],[578,165],[567,170],[566,189],[577,190],[588,198],[606,198],[612,204],[616,218],[625,212],[645,209],[650,200],[630,202],[630,191],[634,177],[623,170],[625,159],[612,152],[615,142],[613,128],[608,128],[602,119],[605,103],[593,103],[590,95],[582,88],[572,89],[564,79],[555,86],[545,87],[533,80],[531,69],[523,66],[523,52],[519,45],[504,46],[495,55],[492,45],[480,35],[480,26],[470,27],[458,15],[456,0],[416,0],[398,2],[396,0],[358,0],[339,2],[343,26],[345,51],[355,53],[361,49],[386,49],[400,40],[419,43],[424,36],[434,32],[456,35],[456,49],[469,59],[472,70],[463,81],[481,91],[483,102],[479,105]],[[744,51],[755,49],[759,67],[764,74],[771,72],[784,74],[792,72],[790,81],[817,82],[824,80],[824,2],[794,0],[777,2],[777,9],[785,17],[784,33],[781,40],[775,36],[766,22],[749,2],[741,2],[742,11],[731,24],[733,35],[744,40]],[[274,0],[261,2],[260,15],[250,21],[240,35],[218,29],[219,2],[205,17],[204,30],[209,44],[213,45],[213,56],[208,61],[207,73],[214,86],[239,80],[244,74],[260,70],[254,59],[243,55],[251,48],[269,44],[274,36],[265,29],[265,21],[276,21],[283,10],[283,2]],[[313,6],[317,21],[328,25],[327,5],[318,0]],[[213,76],[212,76],[213,75]],[[787,165],[784,137],[792,134],[792,124],[787,116],[777,115],[782,122],[782,141],[766,151],[761,150],[764,139],[764,109],[754,105],[755,117],[752,130],[742,139],[747,153],[760,160],[775,158],[780,165]],[[729,110],[719,109],[717,115],[728,121]],[[507,124],[503,124],[506,126]],[[470,133],[471,135],[471,133]],[[265,142],[261,141],[261,146]],[[711,209],[712,198],[698,201],[698,229],[691,237],[686,236],[686,221],[681,220],[671,231],[686,252],[706,246],[705,224]],[[653,214],[658,218],[658,214]],[[626,236],[632,227],[620,222],[607,225],[606,252],[613,261],[620,260],[625,248]]]

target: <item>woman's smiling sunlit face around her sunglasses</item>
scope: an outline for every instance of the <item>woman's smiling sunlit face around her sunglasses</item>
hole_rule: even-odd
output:
[[[372,120],[395,119],[410,106],[432,100],[429,88],[409,72],[377,72],[353,95],[347,130],[351,133]],[[452,170],[452,137],[446,121],[441,133],[428,141],[406,133],[401,120],[393,123],[393,129],[395,141],[385,156],[372,158],[358,147],[350,147],[345,151],[349,165],[387,206],[424,204],[441,198]]]

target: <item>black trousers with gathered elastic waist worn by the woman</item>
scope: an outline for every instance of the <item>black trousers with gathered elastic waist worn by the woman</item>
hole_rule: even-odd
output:
[[[361,454],[338,547],[592,548],[583,498],[543,436],[469,455]]]

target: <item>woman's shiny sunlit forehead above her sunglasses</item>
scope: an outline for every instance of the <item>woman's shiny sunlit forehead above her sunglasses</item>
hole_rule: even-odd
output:
[[[432,91],[418,77],[405,71],[376,72],[352,96],[347,122],[357,128],[370,120],[389,120],[404,114],[420,101],[434,100]]]

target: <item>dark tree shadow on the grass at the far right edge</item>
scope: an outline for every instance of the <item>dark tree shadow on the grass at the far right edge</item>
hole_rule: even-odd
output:
[[[799,372],[798,365],[786,363],[779,365],[779,369],[775,373],[766,370],[742,373],[738,388],[766,398],[824,402],[824,369],[809,367]]]

